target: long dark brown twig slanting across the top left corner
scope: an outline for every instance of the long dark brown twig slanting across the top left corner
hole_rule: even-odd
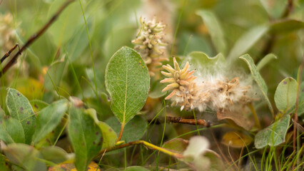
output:
[[[49,22],[46,23],[46,25],[44,25],[44,27],[42,27],[37,33],[34,33],[29,38],[28,41],[26,41],[26,43],[24,44],[24,46],[22,46],[22,48],[19,50],[19,52],[16,53],[13,58],[11,58],[11,61],[9,61],[8,63],[6,63],[6,66],[4,66],[4,68],[0,72],[0,78],[1,78],[1,76],[4,75],[4,73],[6,73],[6,71],[9,70],[9,68],[11,68],[11,66],[14,66],[14,63],[16,62],[16,60],[18,59],[18,57],[20,56],[21,52],[23,52],[24,50],[26,50],[26,48],[28,48],[31,45],[31,43],[33,43],[34,41],[36,41],[36,39],[39,38],[49,28],[49,26],[51,26],[51,24],[54,23],[54,21],[59,17],[59,15],[61,14],[61,12],[64,11],[64,9],[66,9],[66,6],[69,6],[69,4],[71,4],[71,2],[73,2],[73,1],[75,1],[75,0],[66,1],[66,3],[61,6],[61,8],[56,12],[56,14],[54,14],[54,16],[49,20]]]

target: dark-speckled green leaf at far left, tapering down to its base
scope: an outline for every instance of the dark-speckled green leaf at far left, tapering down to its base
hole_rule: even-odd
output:
[[[36,115],[29,100],[18,90],[9,88],[6,95],[6,105],[13,118],[18,120],[24,128],[25,142],[31,144],[35,132]]]

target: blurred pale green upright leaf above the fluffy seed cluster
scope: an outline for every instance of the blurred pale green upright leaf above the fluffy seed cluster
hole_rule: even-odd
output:
[[[210,33],[213,45],[216,46],[218,53],[226,53],[226,41],[220,22],[215,14],[208,10],[199,10],[196,12],[201,16],[204,24],[207,26]]]

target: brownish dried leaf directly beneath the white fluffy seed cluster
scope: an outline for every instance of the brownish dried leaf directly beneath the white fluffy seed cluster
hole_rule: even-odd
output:
[[[230,119],[233,120],[233,122],[240,126],[241,128],[244,128],[245,130],[250,130],[254,123],[249,120],[248,118],[245,118],[243,113],[237,112],[237,111],[230,111],[230,110],[218,110],[218,113],[216,113],[218,120],[223,119]]]

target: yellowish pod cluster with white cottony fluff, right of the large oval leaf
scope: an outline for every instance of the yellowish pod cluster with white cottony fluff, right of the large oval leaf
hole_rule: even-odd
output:
[[[240,78],[213,77],[206,81],[198,82],[193,73],[189,71],[187,62],[181,69],[173,58],[174,68],[170,65],[163,66],[167,72],[161,73],[168,77],[161,83],[169,83],[163,91],[171,90],[172,92],[166,97],[171,99],[172,105],[181,106],[181,110],[198,109],[200,111],[210,108],[211,110],[239,110],[244,105],[251,103],[254,98],[250,98],[248,92],[251,86],[243,86]]]

